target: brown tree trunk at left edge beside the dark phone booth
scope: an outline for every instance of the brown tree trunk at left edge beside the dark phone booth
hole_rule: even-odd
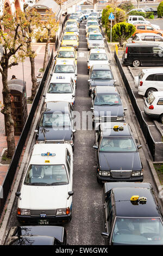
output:
[[[7,147],[8,147],[7,157],[12,158],[12,156],[15,153],[15,137],[14,137],[14,120],[12,119],[12,113],[11,113],[11,97],[10,97],[10,90],[8,87],[8,68],[3,68],[2,83],[3,83],[2,93],[3,93],[4,108],[1,110],[1,113],[4,114],[4,117],[5,117]]]

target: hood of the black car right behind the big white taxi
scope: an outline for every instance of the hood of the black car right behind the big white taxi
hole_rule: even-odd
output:
[[[42,127],[39,127],[38,141],[54,140],[54,141],[67,141],[71,139],[72,128],[71,126],[66,127],[45,127],[45,136],[42,132]]]

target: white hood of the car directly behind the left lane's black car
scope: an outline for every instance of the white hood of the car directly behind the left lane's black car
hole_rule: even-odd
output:
[[[72,98],[72,93],[47,93],[45,102],[48,101],[68,101],[72,103],[74,102],[74,98]]]

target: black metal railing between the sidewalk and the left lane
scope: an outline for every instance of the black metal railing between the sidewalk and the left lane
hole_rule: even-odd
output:
[[[52,60],[53,60],[53,50],[52,50],[51,57],[49,58],[46,70],[43,73],[40,86],[39,86],[39,88],[37,90],[37,93],[34,97],[34,100],[33,100],[33,103],[32,103],[32,108],[30,109],[30,113],[28,115],[26,124],[24,124],[23,131],[22,131],[20,139],[17,143],[17,147],[16,147],[16,150],[15,150],[14,156],[12,157],[7,175],[5,176],[5,179],[4,179],[3,184],[2,184],[3,198],[0,198],[0,216],[2,215],[2,211],[4,209],[5,202],[7,200],[8,194],[10,192],[12,181],[14,180],[14,175],[16,173],[16,169],[17,169],[17,166],[18,166],[18,161],[19,161],[20,156],[22,154],[22,150],[23,150],[24,144],[26,142],[28,132],[30,130],[30,126],[31,126],[32,121],[33,121],[33,117],[35,115],[36,108],[39,104],[40,96],[41,96],[42,90],[44,88],[45,81],[46,81],[47,75],[48,75],[48,71],[49,71],[49,68],[51,67],[51,64],[52,64]]]

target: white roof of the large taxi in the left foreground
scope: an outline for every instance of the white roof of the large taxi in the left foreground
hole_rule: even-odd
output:
[[[32,155],[30,157],[29,164],[64,164],[66,149],[70,147],[69,144],[35,144],[33,147]],[[42,154],[54,154],[45,156]],[[45,163],[45,160],[49,160],[49,163]]]

